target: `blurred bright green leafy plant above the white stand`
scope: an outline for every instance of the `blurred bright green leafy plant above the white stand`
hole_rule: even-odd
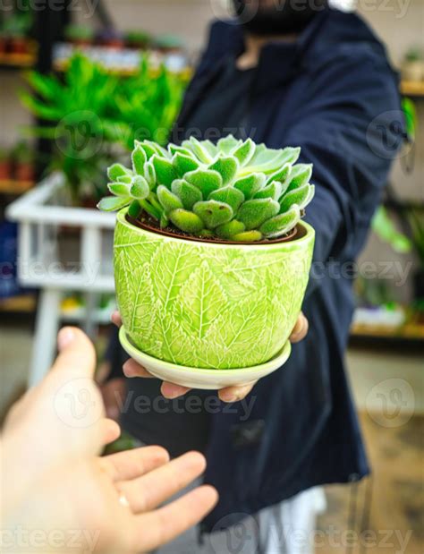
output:
[[[186,80],[143,57],[129,76],[74,55],[63,76],[29,72],[21,101],[41,122],[29,132],[53,141],[47,172],[60,170],[74,204],[106,193],[106,167],[129,159],[134,139],[165,144]]]

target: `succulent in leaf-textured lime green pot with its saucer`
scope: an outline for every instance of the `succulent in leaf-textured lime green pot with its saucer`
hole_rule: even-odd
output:
[[[220,388],[287,359],[314,243],[299,154],[231,135],[136,141],[131,169],[109,168],[120,338],[157,377]]]

